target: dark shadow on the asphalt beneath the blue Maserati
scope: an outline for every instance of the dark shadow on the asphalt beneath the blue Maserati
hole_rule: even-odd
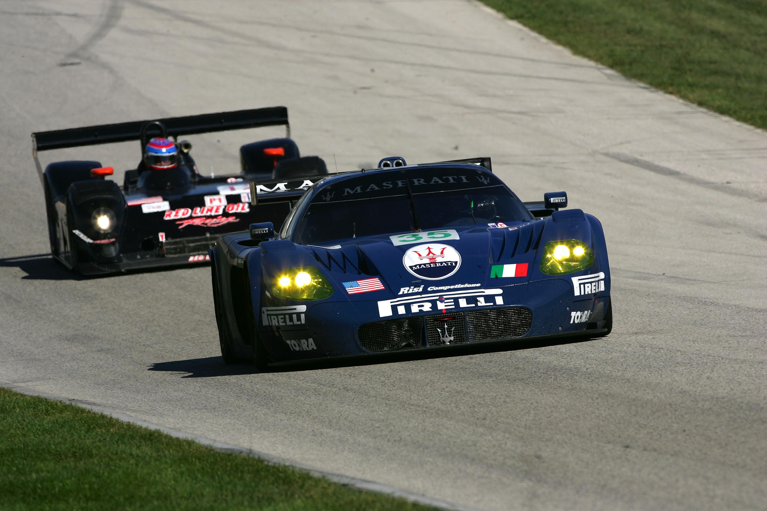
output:
[[[298,372],[318,371],[322,369],[338,369],[342,367],[357,367],[364,365],[389,364],[392,362],[413,362],[429,359],[448,359],[466,355],[482,355],[497,352],[515,352],[522,349],[545,348],[547,346],[562,346],[578,342],[599,339],[569,337],[565,339],[547,339],[536,341],[497,341],[476,342],[469,345],[450,346],[449,349],[423,349],[419,351],[400,351],[392,353],[376,353],[374,355],[359,355],[338,359],[318,359],[292,362],[289,365],[276,365],[267,372]],[[181,378],[211,378],[214,376],[257,375],[261,373],[252,364],[227,365],[220,356],[205,359],[175,360],[173,362],[156,362],[149,371],[176,372]]]

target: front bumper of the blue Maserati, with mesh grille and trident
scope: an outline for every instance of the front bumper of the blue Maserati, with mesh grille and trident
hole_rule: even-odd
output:
[[[427,309],[429,300],[418,296],[267,307],[259,334],[273,360],[291,362],[605,331],[610,298],[604,292],[574,296],[563,279],[484,291],[473,301],[448,300],[444,312],[436,302]]]

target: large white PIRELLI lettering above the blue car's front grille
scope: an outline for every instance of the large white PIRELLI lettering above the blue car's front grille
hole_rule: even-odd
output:
[[[503,305],[503,290],[466,290],[449,293],[422,294],[382,300],[378,302],[378,316],[401,316],[403,314],[430,312],[447,309],[466,309]]]

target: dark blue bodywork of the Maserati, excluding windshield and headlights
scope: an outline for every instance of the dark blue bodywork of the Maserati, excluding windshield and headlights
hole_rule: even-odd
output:
[[[449,165],[451,170],[463,167],[492,175],[476,165]],[[402,169],[368,172],[395,175]],[[344,179],[358,175],[350,172],[323,179],[302,202],[322,195],[331,185],[339,189]],[[301,202],[296,209],[301,209]],[[291,241],[295,234],[290,222],[298,221],[300,215],[298,211],[289,216],[276,239],[258,241],[248,233],[227,234],[210,252],[222,351],[229,349],[230,360],[292,362],[610,332],[611,283],[604,232],[597,218],[580,209],[545,210],[545,216],[530,215],[528,220],[502,227],[453,226],[441,231],[454,231],[454,236],[436,241],[426,239],[429,231],[424,230],[316,245]],[[406,268],[403,258],[421,240],[396,245],[392,236],[420,236],[426,244],[447,245],[459,254],[457,269],[449,277],[420,278]],[[594,263],[571,274],[543,274],[545,244],[570,239],[588,244]],[[512,274],[500,276],[502,265],[509,265],[506,268]],[[288,301],[269,292],[281,271],[300,267],[318,268],[334,288],[332,296]],[[514,268],[519,276],[513,275]],[[380,280],[384,289],[347,292],[350,283],[370,279]],[[400,346],[403,339],[408,342]]]

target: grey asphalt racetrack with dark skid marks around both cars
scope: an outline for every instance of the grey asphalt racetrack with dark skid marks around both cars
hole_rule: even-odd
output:
[[[209,267],[51,260],[32,131],[275,105],[331,170],[491,156],[523,200],[567,191],[604,225],[611,336],[258,374],[221,361]],[[5,0],[0,112],[0,384],[461,506],[765,509],[767,133],[466,0]],[[229,173],[279,133],[189,138]],[[41,157],[121,183],[140,148]]]

